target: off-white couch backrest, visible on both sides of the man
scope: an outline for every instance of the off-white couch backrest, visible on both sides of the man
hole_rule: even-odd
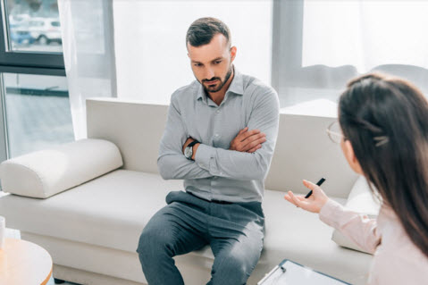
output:
[[[122,152],[123,168],[157,173],[159,141],[164,133],[168,106],[136,101],[92,98],[87,100],[88,138],[112,141]],[[348,197],[357,180],[341,154],[340,146],[325,130],[334,118],[281,113],[273,163],[266,189],[304,193],[301,180],[327,180],[331,196]]]

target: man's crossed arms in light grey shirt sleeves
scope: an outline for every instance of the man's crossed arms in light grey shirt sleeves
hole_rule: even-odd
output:
[[[278,124],[278,98],[276,94],[266,94],[257,102],[248,127],[232,139],[229,149],[196,144],[192,155],[195,161],[191,161],[183,152],[193,138],[186,137],[185,124],[172,98],[161,140],[159,172],[164,179],[220,176],[235,180],[263,180],[273,156]]]

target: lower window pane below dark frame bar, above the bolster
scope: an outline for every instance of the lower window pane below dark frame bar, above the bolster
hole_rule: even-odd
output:
[[[65,77],[4,73],[9,156],[74,140]]]

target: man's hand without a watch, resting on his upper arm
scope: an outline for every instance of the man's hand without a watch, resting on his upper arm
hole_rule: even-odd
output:
[[[257,149],[262,147],[266,141],[266,135],[260,130],[248,130],[248,127],[239,130],[236,138],[231,141],[229,149],[240,152],[254,153]]]

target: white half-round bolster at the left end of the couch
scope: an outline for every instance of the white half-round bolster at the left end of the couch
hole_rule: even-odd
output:
[[[123,165],[119,148],[103,139],[81,139],[21,155],[0,164],[4,192],[46,198]]]

